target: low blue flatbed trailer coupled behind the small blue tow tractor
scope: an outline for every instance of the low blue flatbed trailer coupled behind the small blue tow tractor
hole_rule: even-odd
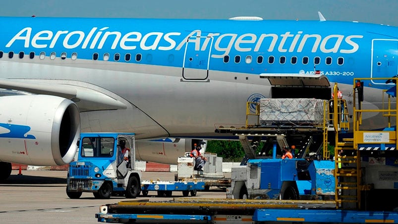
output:
[[[149,191],[156,191],[160,197],[171,197],[173,191],[181,191],[183,196],[196,196],[198,190],[205,189],[205,182],[194,181],[141,181],[142,195],[148,195]]]

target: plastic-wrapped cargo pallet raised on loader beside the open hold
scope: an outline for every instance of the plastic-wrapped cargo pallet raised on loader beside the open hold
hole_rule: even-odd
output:
[[[261,125],[320,125],[324,122],[324,102],[327,101],[304,98],[260,99],[260,123]],[[326,106],[326,114],[328,108]],[[326,116],[327,121],[328,118]]]

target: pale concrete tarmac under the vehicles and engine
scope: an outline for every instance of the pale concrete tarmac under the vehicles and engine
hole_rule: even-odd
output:
[[[11,176],[0,181],[0,220],[7,224],[48,224],[48,223],[98,223],[95,214],[99,207],[126,201],[124,197],[95,199],[92,193],[83,193],[80,199],[66,196],[67,171],[55,170],[13,170]],[[143,172],[144,180],[174,180],[175,172]],[[230,176],[230,174],[229,174]],[[183,198],[182,192],[173,192],[171,197],[157,197],[150,191],[148,196],[137,199],[150,201]],[[225,199],[226,193],[219,188],[210,191],[198,191],[195,199]]]

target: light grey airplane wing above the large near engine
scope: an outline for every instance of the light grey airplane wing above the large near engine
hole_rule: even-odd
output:
[[[76,103],[80,112],[126,109],[127,106],[97,90],[68,84],[48,84],[0,79],[0,88],[63,97]]]

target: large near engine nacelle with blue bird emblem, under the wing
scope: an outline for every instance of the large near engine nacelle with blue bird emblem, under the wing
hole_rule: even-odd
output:
[[[0,161],[57,166],[72,161],[80,136],[75,103],[48,95],[0,97]]]

